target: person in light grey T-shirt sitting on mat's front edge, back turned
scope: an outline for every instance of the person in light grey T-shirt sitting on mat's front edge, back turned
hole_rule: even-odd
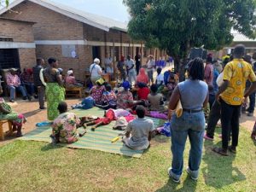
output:
[[[150,145],[154,122],[151,119],[145,119],[146,109],[143,106],[137,106],[136,113],[138,119],[134,119],[127,125],[123,143],[128,148],[144,150]]]

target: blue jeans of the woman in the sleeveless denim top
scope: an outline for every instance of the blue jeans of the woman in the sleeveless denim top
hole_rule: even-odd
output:
[[[189,169],[193,177],[198,177],[201,164],[203,137],[205,130],[205,117],[203,112],[183,112],[180,118],[176,114],[172,116],[172,170],[173,175],[178,179],[183,172],[183,151],[187,137],[189,136]]]

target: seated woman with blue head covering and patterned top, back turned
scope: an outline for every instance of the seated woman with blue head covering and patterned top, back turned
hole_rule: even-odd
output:
[[[129,91],[131,84],[129,81],[124,81],[122,87],[124,90],[120,91],[117,95],[117,108],[131,108],[133,104],[133,96]]]

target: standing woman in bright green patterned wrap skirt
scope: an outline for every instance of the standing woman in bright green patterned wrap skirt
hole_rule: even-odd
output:
[[[58,61],[49,58],[49,67],[44,69],[44,79],[46,82],[47,117],[54,120],[59,115],[58,105],[65,100],[65,89],[58,70]]]

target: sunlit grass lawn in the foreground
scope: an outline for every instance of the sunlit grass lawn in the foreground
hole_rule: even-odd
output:
[[[219,131],[219,129],[217,130]],[[256,191],[255,143],[241,128],[237,154],[221,157],[204,143],[197,182],[183,171],[173,183],[170,139],[154,138],[141,159],[85,149],[53,147],[47,143],[15,141],[0,148],[0,191]],[[217,138],[217,137],[216,137]],[[189,144],[184,153],[188,165]]]

